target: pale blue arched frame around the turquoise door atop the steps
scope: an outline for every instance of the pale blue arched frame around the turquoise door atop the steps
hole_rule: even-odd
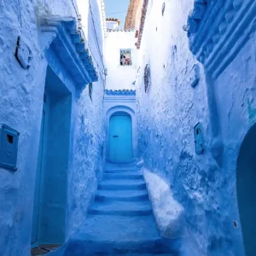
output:
[[[132,137],[132,161],[137,160],[137,117],[136,113],[132,108],[129,108],[127,106],[118,105],[114,106],[113,108],[109,108],[108,112],[106,113],[106,119],[105,119],[105,131],[106,131],[106,161],[112,162],[109,158],[109,122],[111,116],[116,112],[125,112],[131,116],[131,137]]]

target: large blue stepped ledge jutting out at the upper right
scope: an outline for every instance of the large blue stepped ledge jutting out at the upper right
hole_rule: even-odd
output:
[[[195,0],[188,24],[189,49],[217,79],[256,30],[254,0]]]

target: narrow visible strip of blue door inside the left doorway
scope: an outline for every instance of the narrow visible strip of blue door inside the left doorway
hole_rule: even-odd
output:
[[[33,207],[33,218],[32,218],[32,244],[38,242],[38,228],[39,228],[39,214],[40,214],[40,195],[41,195],[41,178],[44,171],[44,144],[46,137],[46,124],[48,121],[48,105],[46,102],[47,98],[44,95],[44,109],[42,113],[41,121],[41,134],[38,148],[38,168],[36,173],[36,185],[34,194],[34,207]]]

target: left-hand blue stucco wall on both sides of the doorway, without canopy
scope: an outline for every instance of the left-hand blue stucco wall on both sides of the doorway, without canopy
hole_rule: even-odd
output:
[[[75,1],[74,1],[75,2]],[[91,1],[99,37],[103,45],[100,1]],[[76,3],[75,3],[76,4]],[[29,255],[31,247],[32,209],[38,160],[41,113],[47,70],[47,52],[42,51],[38,24],[40,15],[75,17],[71,1],[0,1],[0,123],[20,131],[18,171],[0,168],[0,255]],[[97,178],[102,175],[104,76],[95,44],[90,17],[88,38],[96,60],[99,82],[93,84],[93,102],[88,87],[76,92],[76,84],[63,63],[54,67],[63,84],[73,93],[70,151],[67,170],[66,238],[83,222]],[[17,37],[22,35],[32,50],[32,67],[24,70],[15,60]],[[92,38],[92,39],[91,39]],[[98,64],[96,64],[96,62]],[[55,60],[52,61],[55,64]],[[101,73],[101,74],[100,74]],[[57,184],[56,184],[57,185]]]

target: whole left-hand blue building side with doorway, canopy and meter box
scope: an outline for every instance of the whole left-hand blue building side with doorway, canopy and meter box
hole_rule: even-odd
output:
[[[66,241],[102,177],[105,18],[83,2],[0,2],[4,256]]]

